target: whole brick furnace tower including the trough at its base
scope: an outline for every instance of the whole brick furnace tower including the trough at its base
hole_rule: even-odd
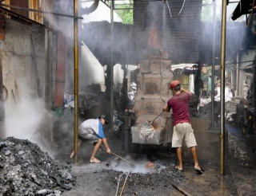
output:
[[[136,123],[151,121],[162,112],[162,108],[166,106],[167,100],[172,96],[169,87],[170,80],[173,78],[170,60],[156,58],[140,61],[140,72],[137,77],[138,89],[134,100]],[[158,120],[155,120],[156,125],[160,122],[163,126],[154,131],[152,139],[147,140],[138,136],[140,130],[135,124],[131,128],[133,143],[170,143],[172,135],[171,112],[163,112]]]

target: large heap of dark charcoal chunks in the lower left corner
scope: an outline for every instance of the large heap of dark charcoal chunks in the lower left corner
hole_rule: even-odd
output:
[[[75,185],[70,170],[29,140],[0,139],[0,196],[60,195]]]

